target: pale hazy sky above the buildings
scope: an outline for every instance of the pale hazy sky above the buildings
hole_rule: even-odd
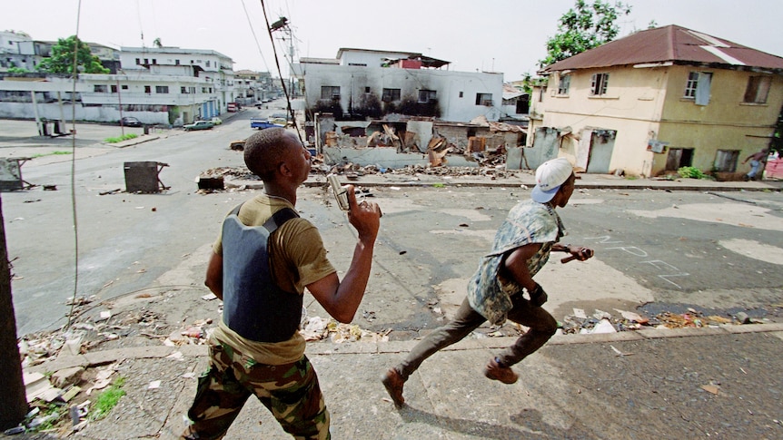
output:
[[[5,0],[0,30],[35,40],[78,34],[114,48],[164,46],[214,50],[230,56],[235,71],[288,75],[293,51],[334,58],[342,47],[417,52],[451,62],[450,70],[501,72],[505,81],[535,74],[546,41],[574,0]],[[588,0],[590,2],[590,0]],[[614,3],[614,0],[610,0]],[[590,2],[591,3],[591,2]],[[619,37],[678,24],[737,44],[783,56],[783,2],[779,0],[629,0]],[[266,32],[288,18],[290,33]]]

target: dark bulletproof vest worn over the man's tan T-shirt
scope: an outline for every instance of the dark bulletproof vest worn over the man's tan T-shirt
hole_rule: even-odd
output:
[[[283,208],[251,227],[237,217],[241,206],[223,220],[223,322],[253,341],[288,340],[299,328],[302,295],[274,284],[268,245],[274,230],[299,215]]]

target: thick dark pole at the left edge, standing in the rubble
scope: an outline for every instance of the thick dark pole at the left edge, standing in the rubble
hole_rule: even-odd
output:
[[[5,220],[0,198],[0,429],[19,425],[27,414],[22,359],[16,343],[16,316],[11,295],[11,270],[5,249]]]

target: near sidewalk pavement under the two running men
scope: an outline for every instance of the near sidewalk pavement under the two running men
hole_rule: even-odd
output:
[[[416,341],[315,342],[307,356],[335,439],[783,436],[783,324],[555,336],[514,367],[518,383],[482,376],[513,340],[469,337],[436,353],[408,380],[400,410],[380,377]],[[62,356],[39,369],[120,361],[127,396],[74,436],[168,439],[183,429],[206,360],[205,346],[135,347]],[[161,384],[151,389],[154,380]],[[225,438],[291,437],[251,399]]]

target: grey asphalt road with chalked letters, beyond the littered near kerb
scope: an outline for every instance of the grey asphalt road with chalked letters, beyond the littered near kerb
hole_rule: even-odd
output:
[[[18,333],[63,326],[74,286],[76,297],[104,301],[178,288],[207,293],[203,269],[223,215],[253,191],[201,194],[195,179],[242,164],[242,154],[228,144],[252,134],[248,120],[259,113],[248,109],[211,131],[162,133],[123,149],[82,142],[76,157],[79,150],[90,153],[74,162],[74,185],[68,155],[28,161],[25,180],[57,191],[39,186],[2,194]],[[100,140],[118,128],[79,127],[88,130]],[[53,152],[71,142],[38,139],[45,145],[15,143],[4,134],[0,148],[25,144],[25,152]],[[168,164],[160,178],[170,189],[124,192],[126,161]],[[528,190],[465,186],[378,187],[371,194],[384,216],[357,323],[391,329],[397,339],[448,318],[506,212],[529,197]],[[297,208],[322,231],[342,275],[355,243],[344,214],[320,187],[302,188]],[[577,191],[559,210],[570,231],[566,242],[592,247],[596,258],[566,265],[553,259],[537,279],[558,319],[573,308],[642,306],[750,310],[776,318],[779,308],[771,306],[783,302],[781,208],[779,192]],[[305,302],[308,314],[325,317],[312,298]]]

